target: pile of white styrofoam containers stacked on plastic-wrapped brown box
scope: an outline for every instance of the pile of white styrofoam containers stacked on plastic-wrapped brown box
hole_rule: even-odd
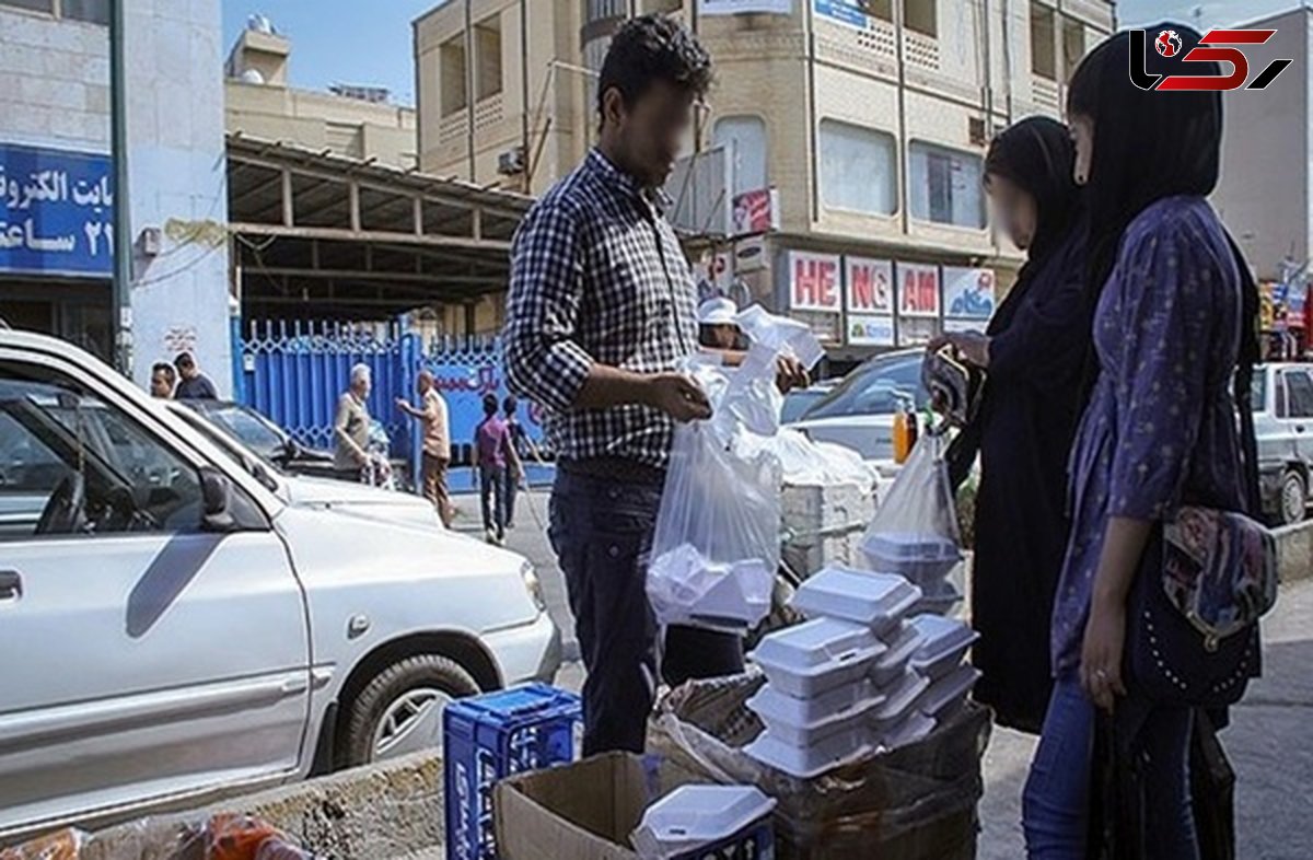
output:
[[[930,681],[911,668],[924,641],[905,624],[920,597],[902,576],[840,566],[805,582],[793,608],[809,620],[752,653],[767,684],[747,705],[765,731],[747,754],[809,779],[934,730],[916,709]]]

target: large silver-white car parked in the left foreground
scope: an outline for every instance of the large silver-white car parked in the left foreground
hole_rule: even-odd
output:
[[[0,331],[0,844],[432,747],[452,697],[550,679],[528,562],[403,511],[270,487]]]

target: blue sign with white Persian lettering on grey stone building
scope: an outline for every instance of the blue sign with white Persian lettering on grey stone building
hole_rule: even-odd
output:
[[[0,143],[0,272],[114,270],[108,155]]]

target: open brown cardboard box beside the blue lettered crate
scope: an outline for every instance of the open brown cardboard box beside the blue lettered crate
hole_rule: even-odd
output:
[[[502,860],[637,860],[629,834],[643,810],[687,783],[655,756],[625,752],[503,780],[494,790]]]

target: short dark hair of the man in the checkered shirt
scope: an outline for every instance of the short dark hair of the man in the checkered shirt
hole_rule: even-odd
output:
[[[633,108],[647,89],[664,81],[701,97],[712,84],[712,58],[697,37],[664,14],[626,21],[611,39],[597,80],[597,113],[609,89]]]

